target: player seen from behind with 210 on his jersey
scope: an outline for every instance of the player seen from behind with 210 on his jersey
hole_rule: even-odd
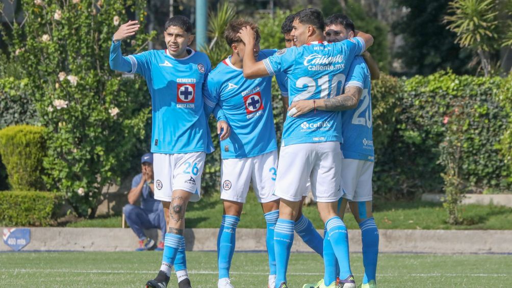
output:
[[[373,38],[356,32],[358,37],[353,39],[327,43],[323,42],[324,27],[322,12],[311,8],[301,10],[295,14],[291,32],[301,47],[280,50],[258,62],[245,51],[243,60],[244,76],[249,79],[285,72],[291,103],[325,99],[326,106],[333,110],[314,109],[301,117],[287,117],[284,124],[274,193],[281,197],[279,219],[274,229],[276,287],[281,288],[287,287],[286,270],[293,243],[294,219],[308,178],[329,235],[325,237],[324,250],[326,245],[332,245],[340,267],[343,268],[342,261],[349,263],[347,228],[337,215],[337,201],[341,196],[341,115],[334,111],[338,109],[336,103],[328,98],[340,94],[350,63],[365,51],[365,47],[372,45]],[[253,45],[254,32],[250,27],[243,28],[240,35],[247,46]],[[289,112],[291,115],[293,110]],[[341,281],[344,287],[354,288],[350,265],[341,273],[345,277]],[[335,279],[333,282],[335,285]]]

